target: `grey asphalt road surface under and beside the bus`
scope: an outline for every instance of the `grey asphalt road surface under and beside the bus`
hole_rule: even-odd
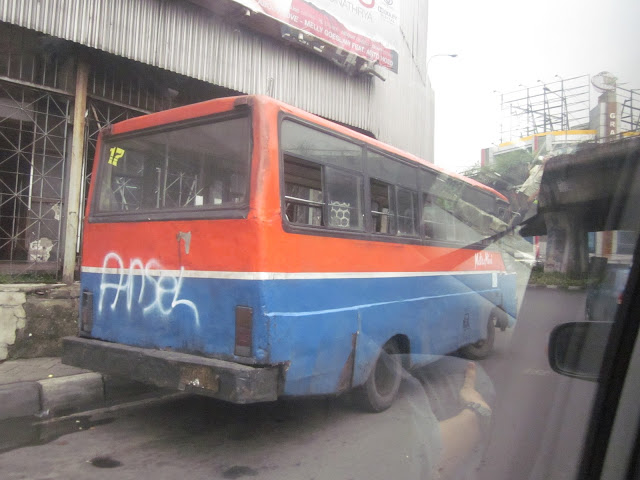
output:
[[[478,477],[572,478],[594,384],[553,373],[553,326],[581,320],[584,293],[529,289],[515,331],[480,362],[496,395],[493,440]],[[0,472],[17,479],[413,478],[406,403],[368,414],[348,399],[249,406],[184,398],[116,413],[5,425]],[[413,433],[412,433],[413,432]]]

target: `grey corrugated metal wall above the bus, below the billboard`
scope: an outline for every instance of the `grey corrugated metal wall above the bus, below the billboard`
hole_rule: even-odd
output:
[[[3,0],[0,21],[282,101],[429,157],[427,1],[403,2],[400,71],[349,77],[328,61],[238,28],[186,1]],[[401,121],[399,121],[401,120]],[[406,126],[416,125],[415,131]]]

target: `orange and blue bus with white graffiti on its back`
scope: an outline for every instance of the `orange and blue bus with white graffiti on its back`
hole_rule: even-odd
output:
[[[353,394],[489,355],[515,275],[497,191],[264,96],[101,132],[63,361],[235,403]]]

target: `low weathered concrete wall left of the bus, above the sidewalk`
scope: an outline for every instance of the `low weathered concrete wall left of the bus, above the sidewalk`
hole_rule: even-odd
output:
[[[80,286],[0,285],[0,361],[56,357],[75,335]]]

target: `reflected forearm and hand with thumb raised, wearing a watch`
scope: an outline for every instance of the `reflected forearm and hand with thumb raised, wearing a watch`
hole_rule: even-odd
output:
[[[475,389],[476,366],[469,363],[465,371],[464,383],[460,389],[462,405],[477,403],[489,409],[482,395]],[[440,422],[442,439],[442,453],[438,471],[442,478],[452,476],[456,467],[473,453],[483,436],[478,415],[469,408],[463,410],[447,420]]]

